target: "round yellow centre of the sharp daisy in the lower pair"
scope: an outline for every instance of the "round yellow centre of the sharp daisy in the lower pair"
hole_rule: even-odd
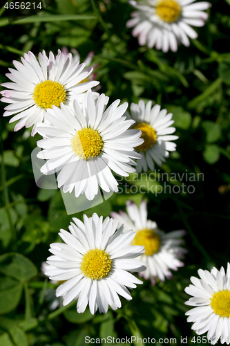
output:
[[[104,250],[89,250],[81,262],[82,273],[92,280],[99,280],[111,271],[111,257]]]

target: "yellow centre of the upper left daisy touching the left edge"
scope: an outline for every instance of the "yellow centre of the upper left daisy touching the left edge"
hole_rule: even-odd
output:
[[[32,95],[37,106],[44,109],[52,108],[52,106],[60,107],[61,102],[66,100],[66,91],[63,85],[52,82],[52,80],[38,83]]]

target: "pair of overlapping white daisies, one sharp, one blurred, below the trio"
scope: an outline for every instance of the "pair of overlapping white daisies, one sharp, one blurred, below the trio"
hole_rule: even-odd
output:
[[[50,280],[62,281],[56,291],[67,305],[77,299],[77,312],[97,309],[106,313],[121,307],[118,295],[131,300],[129,289],[143,282],[131,272],[138,272],[152,284],[158,277],[164,282],[171,271],[184,264],[180,259],[186,250],[180,246],[184,230],[165,234],[155,222],[147,219],[146,202],[140,209],[127,202],[127,212],[112,218],[84,215],[84,223],[73,218],[69,231],[60,230],[64,243],[50,244],[44,272]]]

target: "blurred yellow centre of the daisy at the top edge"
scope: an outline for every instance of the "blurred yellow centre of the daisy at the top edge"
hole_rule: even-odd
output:
[[[160,0],[157,2],[155,12],[162,21],[173,23],[180,17],[181,7],[175,0]]]

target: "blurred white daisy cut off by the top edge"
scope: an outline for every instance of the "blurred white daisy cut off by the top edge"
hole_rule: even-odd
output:
[[[129,3],[137,9],[131,13],[133,19],[126,26],[133,28],[133,36],[138,37],[140,46],[157,48],[164,53],[176,52],[178,44],[189,46],[189,37],[196,39],[198,34],[191,26],[204,26],[208,19],[209,2],[194,0],[146,0]]]

